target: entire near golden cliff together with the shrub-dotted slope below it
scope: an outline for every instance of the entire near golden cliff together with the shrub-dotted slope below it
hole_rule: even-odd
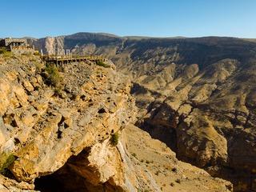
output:
[[[0,191],[232,191],[129,124],[131,83],[112,62],[0,63]]]

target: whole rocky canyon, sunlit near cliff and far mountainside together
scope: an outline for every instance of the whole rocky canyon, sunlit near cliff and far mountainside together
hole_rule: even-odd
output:
[[[59,66],[54,88],[38,56],[0,57],[0,149],[12,158],[3,191],[256,190],[253,40],[27,41],[49,54],[100,54],[107,67]]]

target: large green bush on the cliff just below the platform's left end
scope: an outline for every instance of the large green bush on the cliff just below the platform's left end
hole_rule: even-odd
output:
[[[58,67],[54,64],[48,64],[45,70],[48,74],[46,83],[50,86],[59,87],[62,83],[62,77],[58,72]]]

